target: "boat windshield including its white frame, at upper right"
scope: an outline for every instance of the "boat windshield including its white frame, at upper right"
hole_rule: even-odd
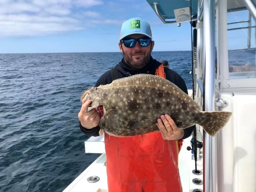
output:
[[[219,89],[256,87],[256,15],[243,0],[216,6],[216,83]],[[251,5],[253,6],[253,5]]]

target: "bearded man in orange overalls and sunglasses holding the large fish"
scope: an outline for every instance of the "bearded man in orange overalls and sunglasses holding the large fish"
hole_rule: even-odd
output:
[[[121,27],[118,43],[123,58],[114,70],[106,71],[95,86],[109,84],[113,77],[155,74],[161,63],[151,56],[154,44],[148,22],[141,18],[126,20]],[[187,93],[185,81],[180,75],[168,68],[163,70],[166,79]],[[98,136],[100,115],[96,109],[87,112],[90,103],[90,100],[82,101],[78,113],[80,129],[86,135]],[[190,136],[193,130],[178,129],[168,114],[159,115],[160,118],[156,121],[159,132],[131,137],[115,137],[105,133],[109,192],[182,191],[178,153],[182,139]]]

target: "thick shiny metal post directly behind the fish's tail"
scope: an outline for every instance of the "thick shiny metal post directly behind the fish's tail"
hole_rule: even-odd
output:
[[[215,88],[215,8],[214,0],[203,1],[203,36],[204,36],[204,110],[214,111],[214,88]],[[203,149],[203,191],[216,192],[216,161],[213,137],[204,132]]]

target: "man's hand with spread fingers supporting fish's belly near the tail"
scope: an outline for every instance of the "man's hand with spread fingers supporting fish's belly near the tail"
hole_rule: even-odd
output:
[[[179,140],[184,136],[184,130],[179,129],[168,114],[161,115],[157,119],[156,126],[158,126],[165,140]]]

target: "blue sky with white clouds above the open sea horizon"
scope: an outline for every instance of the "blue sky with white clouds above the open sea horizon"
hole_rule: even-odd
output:
[[[191,50],[190,24],[164,24],[146,0],[0,0],[0,53],[119,52],[132,17],[150,23],[153,51]]]

